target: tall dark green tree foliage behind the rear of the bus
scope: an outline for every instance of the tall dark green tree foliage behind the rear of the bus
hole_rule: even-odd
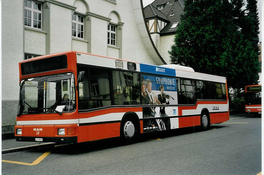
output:
[[[249,4],[246,15],[243,0],[186,0],[175,44],[169,51],[171,62],[197,72],[225,76],[228,87],[257,83],[258,33],[249,35],[246,30],[255,27],[258,31],[258,18],[248,22],[256,13],[252,5],[250,9],[255,11],[249,10]]]

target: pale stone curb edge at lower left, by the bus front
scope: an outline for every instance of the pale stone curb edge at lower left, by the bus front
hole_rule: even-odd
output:
[[[52,147],[55,145],[59,145],[59,143],[40,143],[40,144],[34,144],[34,145],[27,145],[27,146],[19,146],[19,147],[14,147],[14,148],[7,148],[7,149],[2,149],[2,154],[7,154],[7,153],[12,153],[12,152],[18,152],[18,151],[26,151],[30,149],[39,149],[39,148],[44,148],[44,147]]]

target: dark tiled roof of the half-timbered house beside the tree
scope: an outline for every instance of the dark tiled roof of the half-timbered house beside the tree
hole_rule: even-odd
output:
[[[173,1],[175,1],[175,3],[173,3]],[[155,0],[150,5],[144,8],[145,17],[146,19],[150,18],[150,16],[155,17],[153,15],[154,12],[156,12],[156,14],[159,16],[160,14],[157,13],[157,10],[158,10],[157,6],[163,5],[163,9],[158,10],[158,11],[161,12],[161,14],[165,15],[169,22],[161,30],[160,34],[175,33],[177,28],[174,28],[174,29],[170,29],[170,28],[174,23],[180,22],[180,17],[184,13],[184,1],[185,0]],[[152,10],[151,7],[153,7],[153,9],[155,10]],[[154,11],[153,14],[151,14],[151,11],[152,12]],[[174,15],[171,15],[171,14],[174,14]]]

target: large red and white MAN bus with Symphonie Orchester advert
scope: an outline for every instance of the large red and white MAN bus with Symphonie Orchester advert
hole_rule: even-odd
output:
[[[76,51],[19,62],[17,141],[76,143],[229,120],[226,78]]]

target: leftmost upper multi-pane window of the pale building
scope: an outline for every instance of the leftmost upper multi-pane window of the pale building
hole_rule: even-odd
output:
[[[41,20],[42,20],[42,4],[24,0],[24,25],[41,29]]]

